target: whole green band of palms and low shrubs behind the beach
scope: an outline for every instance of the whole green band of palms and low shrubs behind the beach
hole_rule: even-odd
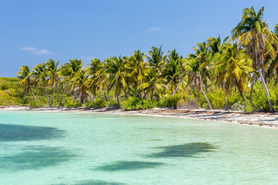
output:
[[[17,79],[0,79],[0,105],[278,111],[278,25],[271,31],[263,10],[243,9],[230,37],[208,37],[187,57],[160,46],[85,68],[77,59],[23,65]]]

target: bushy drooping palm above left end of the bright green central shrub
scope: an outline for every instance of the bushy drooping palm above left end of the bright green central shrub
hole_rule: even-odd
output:
[[[128,85],[125,80],[126,75],[126,61],[120,56],[119,58],[113,57],[112,60],[107,61],[107,68],[103,71],[104,74],[108,74],[107,79],[108,92],[114,87],[115,96],[117,97],[118,104],[121,89],[125,93],[127,98]]]

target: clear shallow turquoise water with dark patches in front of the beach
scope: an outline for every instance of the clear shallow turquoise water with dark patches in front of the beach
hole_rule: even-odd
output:
[[[278,184],[278,130],[105,113],[0,111],[0,184]]]

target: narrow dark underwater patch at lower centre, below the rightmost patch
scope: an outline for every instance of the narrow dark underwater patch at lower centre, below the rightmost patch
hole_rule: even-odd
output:
[[[143,162],[143,161],[117,161],[106,164],[92,170],[118,171],[118,170],[138,170],[143,168],[154,168],[162,165],[162,162]]]

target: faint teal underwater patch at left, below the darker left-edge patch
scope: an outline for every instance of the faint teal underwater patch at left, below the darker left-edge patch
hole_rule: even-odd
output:
[[[61,162],[70,161],[75,154],[60,147],[30,146],[24,152],[0,158],[0,169],[12,171],[22,169],[38,169],[55,166]]]

